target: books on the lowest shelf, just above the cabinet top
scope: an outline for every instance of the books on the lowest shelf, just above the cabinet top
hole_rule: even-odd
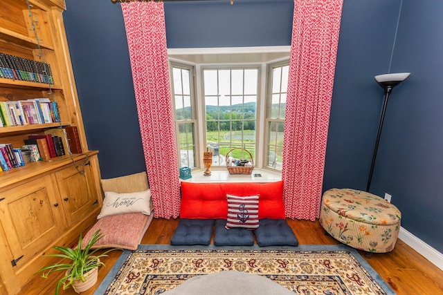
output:
[[[8,171],[25,165],[24,151],[29,151],[30,161],[47,161],[68,153],[82,153],[82,147],[77,127],[64,126],[28,135],[20,149],[14,149],[12,144],[0,144],[0,151],[0,171]]]

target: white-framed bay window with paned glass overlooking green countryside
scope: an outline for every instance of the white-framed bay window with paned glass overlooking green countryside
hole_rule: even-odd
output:
[[[226,154],[282,170],[289,60],[204,64],[171,61],[179,166],[226,166]],[[240,149],[235,149],[240,148]]]

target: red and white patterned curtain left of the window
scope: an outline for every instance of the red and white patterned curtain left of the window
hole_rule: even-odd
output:
[[[154,217],[180,212],[179,162],[163,2],[121,3]]]

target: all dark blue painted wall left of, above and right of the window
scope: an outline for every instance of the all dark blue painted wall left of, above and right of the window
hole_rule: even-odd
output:
[[[102,177],[145,171],[120,5],[66,0],[66,7],[89,149],[100,151]],[[440,252],[442,13],[440,1],[344,0],[323,184],[365,189],[383,100],[374,75],[412,72],[392,91],[371,192],[390,193],[402,226]],[[292,14],[293,0],[165,3],[168,47],[289,45]]]

